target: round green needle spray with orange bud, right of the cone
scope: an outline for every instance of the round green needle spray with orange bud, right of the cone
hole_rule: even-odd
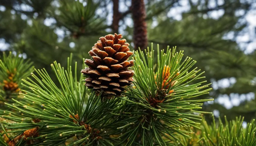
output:
[[[203,94],[208,94],[210,84],[202,85],[206,81],[192,84],[192,81],[204,78],[200,70],[192,68],[196,61],[187,57],[182,62],[182,51],[175,53],[175,49],[164,50],[157,48],[157,70],[154,71],[154,49],[135,52],[135,80],[134,87],[127,89],[120,97],[133,106],[130,109],[131,119],[127,126],[121,127],[125,131],[121,138],[127,139],[127,145],[138,142],[141,145],[169,145],[170,141],[178,140],[177,135],[190,138],[189,131],[180,127],[199,128],[201,120],[198,111],[205,100],[193,100]],[[191,98],[191,99],[190,99]],[[187,99],[187,100],[184,100]],[[167,118],[168,117],[168,118]],[[130,126],[131,125],[131,126]]]

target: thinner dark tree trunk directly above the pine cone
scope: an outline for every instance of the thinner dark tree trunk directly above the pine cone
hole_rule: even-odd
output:
[[[113,21],[112,21],[112,30],[113,33],[118,33],[119,29],[119,20],[120,20],[120,12],[119,12],[119,0],[112,0],[113,1]]]

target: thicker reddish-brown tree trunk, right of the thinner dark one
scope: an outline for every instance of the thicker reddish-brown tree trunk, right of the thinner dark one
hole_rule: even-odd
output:
[[[134,49],[138,47],[145,49],[147,47],[147,24],[146,8],[143,0],[132,0],[132,18],[133,18],[133,42]]]

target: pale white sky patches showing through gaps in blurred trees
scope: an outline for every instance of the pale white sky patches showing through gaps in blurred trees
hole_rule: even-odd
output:
[[[83,0],[79,0],[80,2],[83,3],[83,5],[86,5],[86,2],[83,2]],[[197,0],[193,0],[193,1],[197,1]],[[208,7],[215,7],[215,1],[216,0],[210,0]],[[188,4],[188,0],[180,0],[179,1],[180,6],[176,6],[174,8],[171,8],[167,14],[167,17],[173,17],[176,20],[181,20],[182,19],[182,13],[183,12],[187,12],[190,9],[190,6]],[[223,4],[224,0],[217,0],[218,5]],[[125,4],[126,3],[126,4]],[[54,5],[58,5],[58,3],[54,3]],[[126,10],[128,10],[128,7],[126,6],[130,6],[131,2],[130,1],[124,1],[124,0],[120,0],[120,11],[121,12],[125,12]],[[112,11],[112,7],[113,4],[110,3],[107,8],[108,10],[111,12]],[[239,44],[240,48],[242,50],[244,50],[244,53],[248,54],[248,53],[252,53],[255,49],[256,49],[256,3],[254,3],[254,5],[252,6],[254,9],[250,10],[244,19],[241,19],[240,21],[246,21],[248,23],[248,27],[245,28],[244,33],[242,33],[241,35],[237,36],[235,38],[235,40],[237,41],[237,43]],[[22,9],[29,9],[27,6],[23,5],[21,7]],[[0,6],[0,11],[4,11],[5,7]],[[15,12],[12,12],[15,13]],[[101,14],[102,10],[98,10],[96,12],[97,14]],[[223,15],[223,10],[215,10],[215,11],[211,11],[208,15],[204,15],[204,18],[210,17],[210,18],[214,18],[214,19],[218,19],[219,17],[221,17]],[[244,12],[242,10],[237,11],[236,15],[243,15]],[[27,19],[26,15],[22,15],[21,16],[23,19]],[[112,17],[113,14],[109,14],[106,18],[107,18],[107,22],[109,23],[108,25],[110,25],[112,23]],[[27,20],[28,24],[31,25],[32,21],[31,20]],[[50,26],[51,24],[55,23],[55,19],[52,18],[47,18],[44,21],[44,24],[46,26]],[[132,25],[132,19],[131,18],[126,18],[125,22],[126,25],[131,26]],[[150,27],[156,27],[157,26],[157,21],[154,21],[152,26]],[[119,28],[119,32],[120,33],[125,33],[124,32],[125,29],[125,25],[121,25]],[[62,38],[64,36],[64,32],[61,29],[56,29],[55,33],[59,36],[58,41],[62,41]],[[130,36],[132,37],[132,36]],[[234,37],[234,34],[232,32],[230,32],[229,34],[227,34],[225,36],[225,38],[223,39],[231,39]],[[249,42],[249,43],[245,43],[245,42]],[[75,46],[74,42],[71,42],[69,44],[69,46],[72,48]],[[6,50],[8,49],[9,44],[5,43],[4,39],[0,39],[0,50]],[[26,54],[24,54],[25,56]],[[218,88],[227,88],[230,85],[236,83],[236,79],[235,78],[225,78],[219,81],[212,81],[212,87],[214,89],[218,89]],[[231,98],[231,100],[230,100]],[[243,95],[238,95],[238,94],[232,94],[230,95],[230,98],[228,95],[221,95],[218,99],[215,100],[215,102],[218,102],[220,104],[222,104],[223,106],[225,106],[227,109],[232,108],[233,106],[238,106],[243,100],[251,100],[254,98],[254,94],[253,93],[248,93],[248,94],[243,94]],[[211,103],[209,103],[211,104]],[[218,115],[218,111],[215,110],[214,111],[215,115]]]

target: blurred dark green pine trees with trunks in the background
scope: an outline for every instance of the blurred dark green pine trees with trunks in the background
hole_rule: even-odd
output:
[[[213,83],[210,96],[198,97],[215,99],[204,110],[250,121],[256,116],[256,53],[245,49],[253,36],[240,40],[255,30],[246,20],[255,10],[253,0],[0,0],[0,40],[7,46],[0,50],[22,52],[35,68],[50,70],[55,60],[66,64],[71,52],[74,60],[88,58],[109,33],[122,33],[134,49],[150,42],[177,46]],[[236,106],[224,106],[230,101]]]

